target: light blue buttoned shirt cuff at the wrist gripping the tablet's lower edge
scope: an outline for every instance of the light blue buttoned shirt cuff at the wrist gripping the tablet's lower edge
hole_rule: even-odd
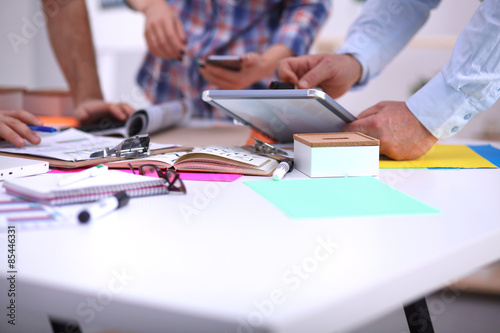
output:
[[[415,117],[438,139],[459,132],[479,110],[440,72],[406,101]]]

